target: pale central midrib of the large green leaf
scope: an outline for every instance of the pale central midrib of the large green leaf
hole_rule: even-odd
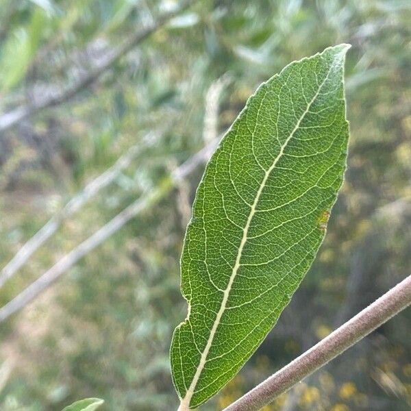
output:
[[[206,347],[204,348],[203,353],[201,353],[199,366],[197,367],[196,373],[195,373],[194,377],[192,378],[192,382],[191,382],[190,386],[188,387],[188,390],[186,392],[186,395],[184,396],[184,399],[182,399],[182,401],[180,403],[178,411],[188,411],[188,410],[190,410],[190,401],[191,401],[192,396],[195,394],[195,387],[197,386],[197,382],[199,381],[199,377],[201,375],[201,372],[203,371],[204,366],[206,365],[208,352],[210,351],[212,342],[214,340],[214,335],[216,334],[216,330],[219,327],[221,317],[223,316],[223,313],[225,311],[225,307],[227,306],[229,292],[231,291],[232,285],[234,283],[234,279],[236,279],[238,269],[240,268],[240,260],[241,260],[241,256],[242,256],[242,250],[244,249],[245,244],[247,242],[249,227],[251,225],[251,221],[253,219],[253,216],[256,213],[256,207],[258,205],[258,201],[260,200],[262,190],[264,190],[264,186],[266,184],[266,181],[269,178],[269,176],[270,176],[271,172],[273,171],[273,169],[275,169],[275,166],[277,165],[277,162],[279,161],[279,159],[282,158],[282,155],[284,154],[284,149],[286,149],[286,147],[288,145],[288,142],[291,140],[292,136],[294,136],[295,132],[297,132],[297,129],[299,128],[299,125],[301,124],[301,121],[303,121],[304,117],[306,116],[306,114],[310,110],[310,107],[311,107],[312,103],[314,103],[314,100],[316,99],[316,97],[318,97],[321,88],[323,87],[323,85],[327,81],[327,78],[329,76],[329,73],[331,72],[331,69],[332,69],[332,67],[330,67],[327,75],[325,76],[325,79],[319,85],[319,89],[315,93],[314,97],[312,97],[311,101],[308,103],[306,110],[304,110],[303,114],[301,114],[301,117],[297,121],[294,129],[292,129],[292,132],[290,133],[290,135],[284,141],[284,144],[280,148],[277,157],[273,161],[273,164],[271,165],[271,167],[264,174],[264,178],[262,179],[260,187],[258,188],[256,198],[254,199],[254,202],[251,206],[250,214],[247,218],[247,223],[246,223],[246,225],[243,229],[243,232],[242,232],[242,238],[241,238],[240,246],[238,247],[238,253],[237,253],[237,257],[236,257],[236,263],[234,264],[232,275],[229,277],[229,282],[227,284],[227,288],[225,288],[225,290],[224,290],[223,301],[221,301],[220,310],[216,315],[216,319],[214,320],[214,324],[212,325],[212,328],[211,328],[211,331],[210,331],[210,336],[207,340]]]

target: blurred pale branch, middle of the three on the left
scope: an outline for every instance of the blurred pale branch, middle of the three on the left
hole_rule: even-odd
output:
[[[127,153],[121,156],[116,163],[106,170],[103,174],[93,179],[92,182],[79,192],[69,203],[55,214],[32,238],[30,238],[23,247],[16,253],[10,262],[0,272],[0,288],[8,281],[18,269],[23,266],[27,260],[35,253],[62,225],[64,220],[77,212],[97,193],[111,184],[119,173],[141,153],[142,149],[151,147],[158,141],[160,132],[151,132],[147,134],[136,145],[132,146]]]

